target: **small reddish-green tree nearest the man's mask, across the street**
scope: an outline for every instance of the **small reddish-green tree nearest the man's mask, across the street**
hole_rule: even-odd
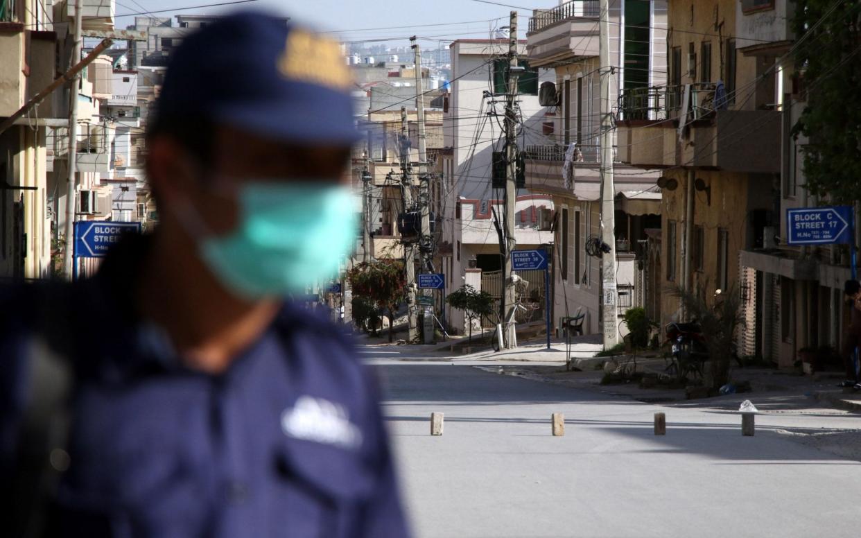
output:
[[[371,301],[381,311],[388,312],[388,341],[394,337],[394,312],[406,298],[404,263],[380,260],[359,263],[347,272],[353,294]]]

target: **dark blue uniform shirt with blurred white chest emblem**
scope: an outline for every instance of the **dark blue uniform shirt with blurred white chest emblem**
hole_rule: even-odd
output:
[[[146,244],[125,240],[89,281],[3,292],[0,472],[14,468],[28,349],[46,323],[35,297],[47,295],[73,312],[59,535],[406,536],[375,380],[349,339],[288,304],[226,373],[186,368],[134,313]]]

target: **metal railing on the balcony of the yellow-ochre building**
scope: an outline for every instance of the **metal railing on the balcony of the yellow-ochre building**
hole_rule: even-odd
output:
[[[684,103],[684,86],[649,86],[622,90],[619,96],[621,120],[671,120],[678,117]],[[720,103],[717,103],[720,104]],[[703,120],[715,112],[715,84],[691,84],[693,120]]]

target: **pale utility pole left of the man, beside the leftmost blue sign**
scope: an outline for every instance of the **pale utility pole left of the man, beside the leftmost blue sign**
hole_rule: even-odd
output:
[[[84,38],[81,35],[81,11],[84,9],[84,0],[75,0],[75,24],[71,39],[74,45],[71,49],[71,65],[77,65],[81,61],[81,48]],[[80,71],[75,73],[69,84],[69,156],[66,163],[69,164],[69,183],[65,193],[65,252],[63,254],[63,267],[65,277],[72,278],[74,264],[77,263],[73,253],[75,245],[75,195],[77,187],[77,87],[81,81]]]

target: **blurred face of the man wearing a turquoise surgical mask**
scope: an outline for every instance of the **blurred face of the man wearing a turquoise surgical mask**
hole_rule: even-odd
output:
[[[162,232],[185,236],[238,296],[302,293],[334,276],[356,243],[349,146],[300,147],[217,127],[209,163],[169,137],[149,149]]]

